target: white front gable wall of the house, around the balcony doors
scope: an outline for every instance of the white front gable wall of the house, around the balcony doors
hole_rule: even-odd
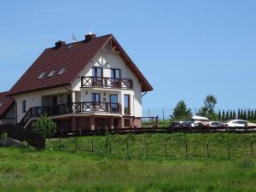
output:
[[[109,67],[106,67],[106,63],[108,63]],[[91,102],[91,93],[101,93],[101,98],[103,98],[104,90],[98,88],[80,88],[81,87],[81,78],[84,76],[92,76],[92,67],[102,67],[103,68],[103,77],[110,78],[111,68],[119,68],[121,70],[121,78],[122,79],[132,79],[133,81],[133,90],[105,90],[108,94],[106,99],[109,101],[109,94],[118,91],[119,94],[119,103],[121,103],[123,107],[124,113],[124,95],[131,95],[131,115],[136,117],[141,117],[142,113],[142,86],[139,83],[137,77],[131,72],[131,69],[126,66],[125,61],[115,52],[109,51],[107,48],[102,49],[89,63],[84,67],[82,73],[79,74],[79,77],[72,84],[72,90],[82,91],[81,97],[83,102]],[[85,91],[87,90],[88,95],[85,96]],[[103,102],[103,101],[102,101]]]

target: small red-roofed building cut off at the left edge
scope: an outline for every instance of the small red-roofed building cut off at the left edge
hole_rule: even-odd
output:
[[[15,124],[15,101],[8,94],[0,93],[0,125]]]

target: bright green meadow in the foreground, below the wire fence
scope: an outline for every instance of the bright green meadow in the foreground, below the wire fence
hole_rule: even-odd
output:
[[[256,160],[120,160],[0,148],[0,191],[255,191]]]

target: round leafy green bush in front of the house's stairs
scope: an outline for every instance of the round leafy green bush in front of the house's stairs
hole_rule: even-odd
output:
[[[46,114],[32,124],[33,131],[43,137],[53,137],[56,131],[56,124]]]

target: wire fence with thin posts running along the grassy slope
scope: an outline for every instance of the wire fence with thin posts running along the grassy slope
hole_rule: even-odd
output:
[[[255,138],[254,138],[255,139]],[[218,142],[202,141],[190,143],[185,140],[137,141],[129,137],[70,137],[56,138],[48,142],[48,148],[67,152],[80,152],[112,156],[118,158],[138,159],[200,159],[213,158],[230,160],[241,157],[255,157],[253,139],[247,143],[237,143],[229,139]]]

